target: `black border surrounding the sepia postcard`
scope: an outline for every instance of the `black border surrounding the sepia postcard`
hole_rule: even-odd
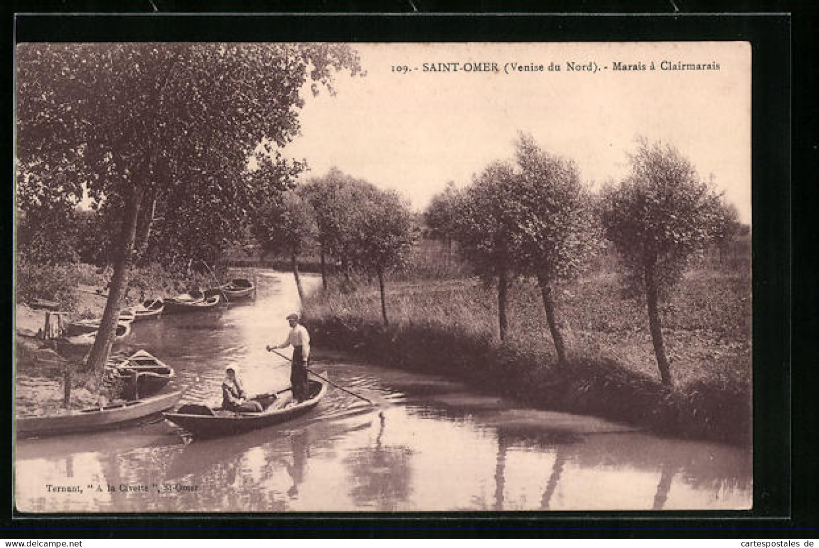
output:
[[[159,0],[157,0],[159,1]],[[418,0],[416,0],[418,2]],[[44,2],[43,2],[44,3]],[[176,4],[179,6],[182,2]],[[88,2],[85,2],[88,8]],[[403,2],[401,2],[403,6]],[[218,8],[218,4],[210,4]],[[100,7],[100,6],[97,6]],[[128,4],[124,4],[127,8]],[[235,6],[234,6],[235,7]],[[405,7],[405,6],[403,6]],[[587,7],[587,6],[586,6]],[[21,7],[23,8],[23,7]],[[90,9],[93,9],[91,7]],[[139,9],[145,9],[140,2]],[[102,24],[104,22],[104,24]],[[297,25],[294,25],[294,22]],[[141,536],[161,527],[165,535],[214,534],[215,525],[248,535],[312,536],[346,532],[371,536],[450,535],[469,532],[531,536],[546,531],[574,536],[607,531],[667,536],[745,528],[793,528],[790,447],[790,30],[791,16],[770,14],[501,15],[368,14],[64,14],[20,15],[17,42],[38,41],[328,41],[328,42],[608,42],[747,40],[752,44],[753,105],[753,380],[754,507],[735,512],[555,512],[412,514],[11,514],[4,526],[68,528],[57,536],[104,534],[108,529]],[[11,55],[13,55],[11,42]],[[13,58],[5,68],[13,74]],[[6,112],[11,92],[4,94]],[[11,118],[11,117],[10,117]],[[7,128],[13,128],[12,120]],[[13,155],[11,146],[7,147]],[[12,157],[13,158],[13,157]],[[11,164],[7,164],[11,165]],[[9,224],[11,224],[9,222]],[[11,236],[11,229],[7,231]],[[13,249],[11,246],[9,249]],[[11,261],[7,272],[11,272]],[[11,289],[11,284],[10,289]],[[11,321],[9,321],[9,326]],[[772,365],[771,365],[772,364]],[[11,402],[11,386],[7,390]],[[11,457],[11,455],[9,455]],[[12,461],[9,459],[11,469]],[[9,478],[10,480],[11,478]],[[9,485],[9,498],[12,490]],[[794,484],[795,487],[795,484]],[[5,502],[5,501],[4,501]],[[7,504],[11,504],[9,500]],[[2,512],[2,510],[0,510]],[[8,516],[8,517],[7,517]],[[800,519],[801,520],[801,519]],[[625,522],[625,523],[624,523]],[[628,523],[628,525],[627,525]],[[699,524],[699,527],[697,527]],[[807,524],[807,523],[805,523]],[[0,531],[5,527],[0,528]],[[717,528],[717,529],[715,529]],[[663,534],[663,532],[665,532]],[[180,534],[181,533],[181,534]],[[2,534],[2,533],[0,533]],[[763,533],[764,534],[764,533]]]

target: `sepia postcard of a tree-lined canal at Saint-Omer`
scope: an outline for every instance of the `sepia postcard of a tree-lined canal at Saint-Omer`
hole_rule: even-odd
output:
[[[751,53],[17,44],[16,511],[753,508]]]

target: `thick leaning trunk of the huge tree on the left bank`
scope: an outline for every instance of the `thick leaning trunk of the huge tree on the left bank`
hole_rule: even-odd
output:
[[[87,366],[93,371],[100,371],[105,367],[111,346],[114,344],[117,322],[120,318],[120,308],[128,289],[128,277],[133,262],[133,240],[137,231],[139,207],[142,204],[142,191],[134,188],[125,206],[125,218],[120,231],[120,242],[117,246],[120,253],[114,263],[114,274],[108,288],[108,300],[105,312],[102,312],[102,321],[97,331],[97,338],[88,355]]]

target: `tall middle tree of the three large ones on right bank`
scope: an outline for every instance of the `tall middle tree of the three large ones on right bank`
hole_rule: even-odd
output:
[[[509,177],[508,213],[515,219],[515,261],[536,276],[546,321],[557,351],[566,362],[566,347],[555,311],[554,287],[572,280],[586,266],[599,242],[599,224],[589,189],[577,166],[541,150],[532,137],[521,135],[517,145],[520,173]]]

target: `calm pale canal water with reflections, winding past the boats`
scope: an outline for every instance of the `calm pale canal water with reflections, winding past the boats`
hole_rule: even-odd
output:
[[[308,287],[318,280],[305,276]],[[256,303],[133,326],[127,348],[174,366],[183,402],[220,400],[224,368],[251,393],[283,388],[265,351],[296,308],[292,276],[259,272]],[[20,440],[24,512],[747,509],[748,451],[658,438],[603,420],[520,407],[429,375],[323,353],[337,389],[280,426],[192,441],[159,422],[93,435]],[[51,491],[49,491],[49,487]],[[55,492],[54,487],[82,492]]]

